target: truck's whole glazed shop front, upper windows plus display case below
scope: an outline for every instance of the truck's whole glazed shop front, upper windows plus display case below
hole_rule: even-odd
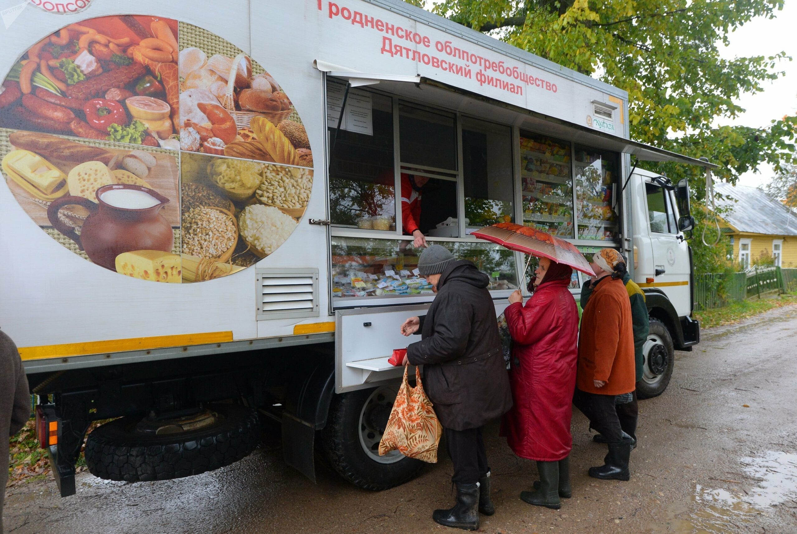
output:
[[[526,257],[470,236],[490,224],[520,221],[576,243],[618,240],[617,154],[379,88],[349,91],[357,127],[329,123],[332,302],[428,301],[417,272],[424,242],[472,260],[505,296],[521,285]],[[574,275],[571,288],[581,282]]]

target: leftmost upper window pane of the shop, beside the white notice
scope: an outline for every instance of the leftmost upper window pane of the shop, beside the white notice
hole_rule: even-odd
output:
[[[330,80],[331,87],[336,82]],[[364,92],[363,89],[350,89]],[[329,206],[332,224],[395,230],[393,103],[370,92],[372,135],[328,125],[330,138]],[[334,140],[334,148],[332,142]]]

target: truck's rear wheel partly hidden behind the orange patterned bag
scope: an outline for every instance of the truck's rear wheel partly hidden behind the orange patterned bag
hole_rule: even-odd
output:
[[[410,481],[423,462],[396,450],[379,456],[398,384],[337,395],[321,431],[321,451],[341,477],[360,488],[378,491]]]

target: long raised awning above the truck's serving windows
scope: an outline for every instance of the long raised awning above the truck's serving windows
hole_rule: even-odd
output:
[[[594,148],[611,150],[620,154],[630,154],[642,162],[673,162],[701,166],[706,169],[719,168],[719,166],[705,158],[690,158],[656,146],[646,145],[642,142],[595,130],[586,125],[556,119],[537,111],[498,102],[484,95],[477,95],[452,85],[442,84],[438,80],[431,80],[422,76],[357,72],[353,68],[342,67],[321,60],[313,61],[313,66],[321,72],[326,72],[328,76],[347,80],[351,87],[379,84],[379,87],[384,91],[395,95],[418,99],[430,105],[481,116],[485,119],[515,124],[521,128],[544,132],[544,134],[552,137],[568,139]]]

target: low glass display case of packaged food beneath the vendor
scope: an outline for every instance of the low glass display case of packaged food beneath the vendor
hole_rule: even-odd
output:
[[[433,241],[429,242],[430,244]],[[469,259],[489,275],[489,290],[515,290],[515,255],[497,244],[438,241],[457,259]],[[410,240],[332,237],[332,298],[432,296],[418,273],[418,255]]]

